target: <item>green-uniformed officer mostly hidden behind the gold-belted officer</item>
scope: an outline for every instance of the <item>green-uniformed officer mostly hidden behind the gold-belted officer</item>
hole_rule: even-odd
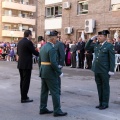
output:
[[[57,32],[57,31],[56,31]],[[63,68],[64,62],[65,62],[65,47],[64,44],[57,40],[55,44],[55,49],[57,51],[57,62],[58,62],[58,67],[60,69]],[[59,93],[61,95],[61,78],[58,78],[58,83],[59,83]]]

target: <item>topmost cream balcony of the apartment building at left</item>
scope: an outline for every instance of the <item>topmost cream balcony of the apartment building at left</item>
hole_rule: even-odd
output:
[[[17,2],[9,2],[9,1],[3,1],[2,8],[27,11],[27,12],[36,12],[36,6],[32,6],[29,4],[21,4]]]

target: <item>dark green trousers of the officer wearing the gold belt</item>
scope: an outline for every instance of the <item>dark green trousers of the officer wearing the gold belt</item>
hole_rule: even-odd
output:
[[[42,83],[41,83],[40,111],[45,111],[47,109],[48,92],[50,90],[53,101],[54,114],[60,113],[61,108],[58,80],[47,78],[42,78],[41,80]]]

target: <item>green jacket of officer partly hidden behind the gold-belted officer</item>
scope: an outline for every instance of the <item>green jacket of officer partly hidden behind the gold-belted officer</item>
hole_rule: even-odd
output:
[[[65,48],[64,44],[60,41],[57,41],[55,44],[55,49],[57,51],[57,61],[58,64],[61,66],[64,66],[64,61],[65,61]]]

